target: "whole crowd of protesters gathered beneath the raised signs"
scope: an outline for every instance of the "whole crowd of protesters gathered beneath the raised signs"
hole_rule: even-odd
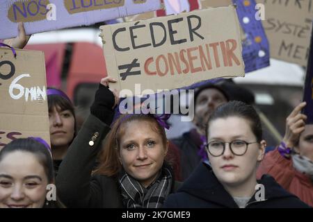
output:
[[[5,42],[22,49],[28,40],[19,24],[19,36]],[[196,89],[195,128],[169,141],[170,114],[114,118],[114,82],[100,81],[79,130],[72,101],[47,89],[51,147],[29,137],[1,149],[0,207],[313,207],[313,125],[301,113],[305,103],[266,153],[247,89],[227,80]],[[54,200],[48,185],[56,186]]]

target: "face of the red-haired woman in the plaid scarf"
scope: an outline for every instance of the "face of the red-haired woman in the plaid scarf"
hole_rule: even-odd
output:
[[[150,121],[127,122],[120,138],[122,166],[144,187],[156,180],[168,151],[168,144],[163,144],[156,128],[156,123]]]

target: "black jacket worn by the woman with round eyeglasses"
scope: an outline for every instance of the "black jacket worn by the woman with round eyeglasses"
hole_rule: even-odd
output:
[[[257,201],[252,196],[247,208],[309,207],[280,187],[271,176],[264,175],[257,182],[265,187],[265,200]],[[168,196],[163,207],[237,208],[238,205],[217,180],[211,168],[201,163],[177,193]]]

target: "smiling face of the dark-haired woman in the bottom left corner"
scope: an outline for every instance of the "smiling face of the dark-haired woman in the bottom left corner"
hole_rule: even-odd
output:
[[[40,208],[48,179],[35,155],[15,151],[0,162],[0,208]]]

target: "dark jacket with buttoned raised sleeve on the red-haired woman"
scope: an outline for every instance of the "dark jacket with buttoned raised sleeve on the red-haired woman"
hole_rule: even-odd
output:
[[[123,207],[117,178],[90,176],[109,130],[109,126],[90,114],[68,148],[56,177],[57,194],[67,207]],[[90,143],[93,139],[94,144]],[[172,191],[179,185],[175,182]]]

